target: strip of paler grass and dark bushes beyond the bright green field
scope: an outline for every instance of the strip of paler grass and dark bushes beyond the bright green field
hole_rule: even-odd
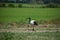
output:
[[[0,3],[0,7],[18,7],[18,8],[60,8],[59,4],[22,4],[22,3]]]

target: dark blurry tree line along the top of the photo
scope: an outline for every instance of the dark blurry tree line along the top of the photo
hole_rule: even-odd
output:
[[[31,3],[31,4],[47,4],[47,3],[60,4],[60,0],[0,0],[0,3]]]

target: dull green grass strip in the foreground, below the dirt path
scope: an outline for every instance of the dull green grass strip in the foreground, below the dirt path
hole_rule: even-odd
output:
[[[60,32],[2,32],[0,40],[60,40]]]

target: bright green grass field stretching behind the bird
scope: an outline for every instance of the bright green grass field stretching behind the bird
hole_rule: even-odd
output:
[[[0,8],[0,22],[25,22],[27,17],[37,21],[60,17],[60,8]]]

